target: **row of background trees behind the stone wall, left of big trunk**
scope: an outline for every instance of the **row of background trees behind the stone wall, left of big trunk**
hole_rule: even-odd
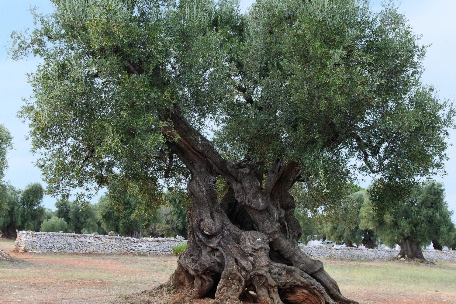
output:
[[[6,185],[1,189],[0,231],[16,237],[16,230],[106,234],[113,231],[128,237],[187,237],[185,198],[164,193],[163,204],[150,219],[137,216],[135,201],[124,193],[123,205],[102,196],[97,203],[81,205],[57,200],[55,211],[42,206],[43,187],[32,183],[24,190]]]

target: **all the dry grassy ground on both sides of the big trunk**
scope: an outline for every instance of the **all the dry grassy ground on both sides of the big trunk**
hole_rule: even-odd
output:
[[[47,254],[13,252],[0,262],[0,303],[171,304],[176,300],[135,295],[166,282],[173,256]],[[342,294],[362,304],[456,304],[456,263],[437,266],[397,262],[326,260]],[[209,303],[211,301],[196,301]]]

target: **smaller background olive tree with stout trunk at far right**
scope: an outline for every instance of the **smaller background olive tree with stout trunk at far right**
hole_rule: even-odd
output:
[[[429,182],[416,189],[408,198],[400,201],[396,208],[378,216],[365,194],[361,207],[360,227],[372,229],[389,247],[400,246],[398,259],[425,261],[421,247],[430,242],[451,247],[455,228],[451,222],[452,211],[448,210],[442,184]]]

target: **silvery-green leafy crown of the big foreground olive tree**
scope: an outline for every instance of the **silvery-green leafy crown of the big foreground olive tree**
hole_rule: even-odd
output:
[[[297,162],[296,182],[321,204],[337,205],[356,172],[382,181],[371,198],[383,209],[444,172],[454,111],[422,83],[426,48],[389,3],[52,3],[10,48],[41,58],[21,115],[52,193],[118,182],[151,217],[161,188],[188,179],[169,151],[173,111],[202,134],[214,127],[227,160]]]

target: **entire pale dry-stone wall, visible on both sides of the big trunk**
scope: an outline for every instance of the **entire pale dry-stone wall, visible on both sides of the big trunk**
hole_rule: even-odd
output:
[[[151,237],[116,237],[109,235],[21,231],[15,248],[19,252],[74,253],[136,253],[171,254],[172,248],[187,242],[183,239]],[[386,260],[398,255],[394,249],[334,248],[327,246],[302,247],[313,258],[347,260]],[[456,262],[456,251],[423,250],[424,257],[433,262]]]

